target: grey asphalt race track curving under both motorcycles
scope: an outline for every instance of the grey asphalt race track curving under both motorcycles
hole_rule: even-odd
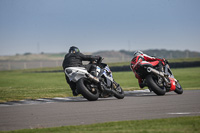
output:
[[[134,91],[126,92],[122,100],[89,102],[76,97],[1,103],[0,131],[199,115],[200,90],[165,96]]]

